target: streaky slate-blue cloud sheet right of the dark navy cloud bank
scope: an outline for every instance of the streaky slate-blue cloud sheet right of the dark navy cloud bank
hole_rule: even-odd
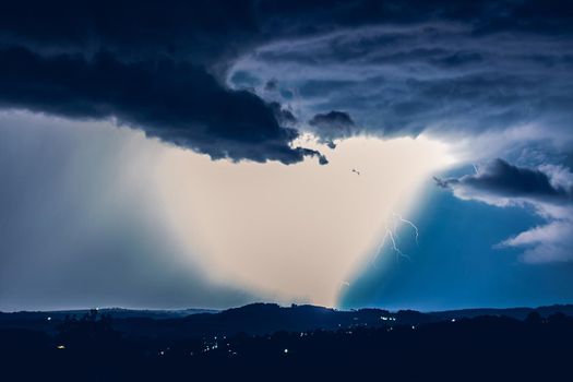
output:
[[[267,63],[263,75],[275,74],[273,68],[300,73],[288,85],[307,97],[309,111],[345,109],[360,126],[386,136],[479,133],[526,123],[569,130],[573,80],[563,50],[573,49],[571,39],[475,37],[467,26],[435,28],[441,32],[403,29],[407,44],[372,44],[363,52],[357,44],[396,32],[365,29],[270,46],[253,65]]]

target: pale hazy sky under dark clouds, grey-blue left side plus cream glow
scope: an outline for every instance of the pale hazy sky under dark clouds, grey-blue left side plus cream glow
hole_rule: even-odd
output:
[[[307,135],[330,164],[286,166],[213,162],[108,122],[14,111],[0,129],[3,309],[335,306],[452,163],[423,136],[332,151]]]

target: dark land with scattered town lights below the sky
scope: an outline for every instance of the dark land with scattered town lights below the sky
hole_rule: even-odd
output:
[[[0,380],[572,381],[571,312],[0,313]]]

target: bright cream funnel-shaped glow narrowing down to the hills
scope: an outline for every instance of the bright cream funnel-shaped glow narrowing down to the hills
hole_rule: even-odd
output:
[[[407,216],[422,182],[453,159],[425,138],[353,138],[334,151],[305,140],[327,166],[212,162],[163,146],[152,177],[170,229],[207,277],[282,302],[335,306],[392,213]]]

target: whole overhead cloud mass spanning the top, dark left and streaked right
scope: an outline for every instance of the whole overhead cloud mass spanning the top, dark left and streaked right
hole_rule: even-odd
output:
[[[533,116],[563,126],[572,109],[573,60],[563,38],[573,31],[570,8],[553,1],[22,1],[0,14],[2,59],[12,62],[3,64],[5,76],[19,77],[0,91],[3,107],[112,115],[214,158],[258,162],[294,163],[303,151],[289,146],[297,132],[283,129],[268,105],[226,88],[229,74],[249,88],[278,87],[295,98],[293,88],[305,82],[322,81],[329,91],[325,84],[338,81],[346,92],[317,99],[324,93],[314,91],[305,119],[343,108],[387,135],[489,129]],[[102,56],[108,65],[98,65]],[[266,65],[230,73],[247,56]],[[287,63],[296,70],[284,71]],[[268,65],[276,72],[267,73]],[[301,83],[284,82],[288,75]],[[111,96],[105,102],[103,87]],[[124,99],[126,92],[141,93]],[[74,105],[71,94],[79,96]]]

